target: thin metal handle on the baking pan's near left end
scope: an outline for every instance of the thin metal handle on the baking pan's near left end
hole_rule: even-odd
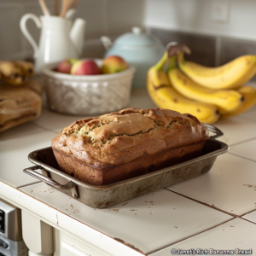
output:
[[[43,181],[44,183],[47,183],[48,185],[50,185],[52,187],[55,187],[56,189],[69,189],[69,190],[71,190],[72,197],[74,199],[78,199],[79,193],[78,193],[77,185],[75,183],[69,182],[65,185],[61,185],[60,183],[55,182],[55,180],[53,180],[52,178],[46,177],[38,172],[35,172],[34,170],[37,170],[37,169],[42,170],[42,172],[45,174],[48,173],[41,166],[28,167],[28,168],[25,168],[23,170],[23,172],[25,172],[26,174],[28,174],[32,177],[38,178],[39,180]]]

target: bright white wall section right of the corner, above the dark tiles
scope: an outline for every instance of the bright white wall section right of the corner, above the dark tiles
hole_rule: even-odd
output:
[[[226,23],[212,20],[214,2],[224,0],[146,0],[145,25],[256,40],[256,1],[230,0]]]

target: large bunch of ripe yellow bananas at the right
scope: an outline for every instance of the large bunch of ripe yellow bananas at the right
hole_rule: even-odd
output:
[[[256,90],[241,85],[256,73],[256,55],[204,67],[185,61],[184,52],[190,52],[186,45],[168,44],[162,59],[148,70],[147,89],[156,105],[191,113],[206,124],[253,107]]]

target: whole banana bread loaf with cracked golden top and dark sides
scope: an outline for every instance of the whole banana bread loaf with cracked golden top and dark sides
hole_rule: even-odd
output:
[[[208,138],[207,127],[188,113],[127,108],[74,122],[52,148],[63,172],[104,185],[195,158]]]

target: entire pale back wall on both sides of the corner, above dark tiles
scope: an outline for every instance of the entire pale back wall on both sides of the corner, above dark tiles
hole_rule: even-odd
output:
[[[216,1],[230,2],[226,23],[212,20]],[[46,2],[52,10],[54,1]],[[32,47],[19,26],[26,13],[42,15],[38,0],[0,0],[1,59],[32,56]],[[131,26],[256,40],[256,0],[81,0],[77,16],[87,20],[85,56],[99,57],[104,50],[99,40],[102,35],[114,37],[130,31]],[[28,28],[38,40],[40,32],[32,20]]]

